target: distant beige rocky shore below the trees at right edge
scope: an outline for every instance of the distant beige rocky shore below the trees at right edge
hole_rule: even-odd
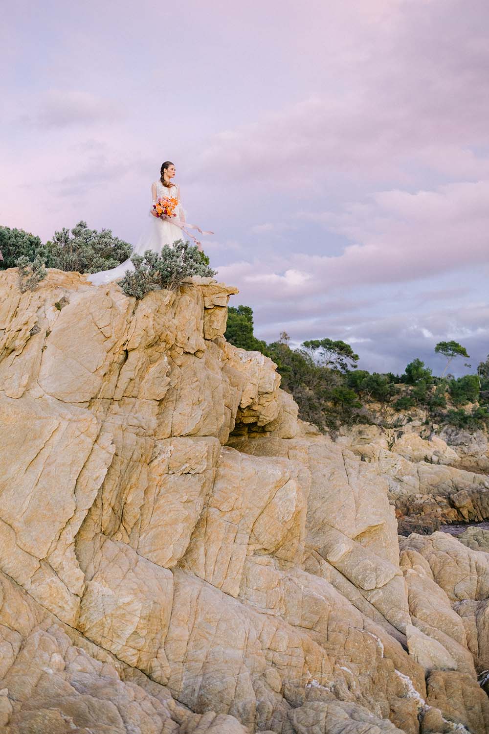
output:
[[[390,418],[402,421],[399,415]],[[386,479],[400,532],[430,534],[440,523],[489,520],[485,433],[445,428],[438,434],[422,411],[409,418],[391,428],[354,426],[339,438]]]

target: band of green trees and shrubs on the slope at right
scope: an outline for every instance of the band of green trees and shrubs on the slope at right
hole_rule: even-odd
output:
[[[243,349],[254,349],[271,357],[282,375],[282,388],[293,395],[304,421],[321,430],[336,430],[340,425],[378,421],[380,414],[407,415],[422,409],[427,420],[458,428],[489,426],[489,356],[477,374],[463,377],[435,377],[418,358],[402,375],[370,373],[356,368],[359,355],[349,344],[331,339],[304,341],[298,349],[282,333],[278,341],[265,344],[254,336],[253,311],[249,306],[229,307],[227,341]],[[468,357],[457,342],[440,342],[435,351],[448,363],[457,355]],[[446,368],[445,368],[446,371]],[[394,418],[395,420],[395,418]]]

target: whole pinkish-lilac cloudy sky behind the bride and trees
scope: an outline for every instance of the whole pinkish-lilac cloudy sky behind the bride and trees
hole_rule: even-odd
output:
[[[134,243],[170,159],[261,338],[488,355],[487,0],[16,0],[0,43],[1,224]]]

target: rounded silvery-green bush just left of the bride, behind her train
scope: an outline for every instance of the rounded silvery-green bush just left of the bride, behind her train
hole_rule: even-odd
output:
[[[46,242],[48,266],[59,270],[96,273],[109,270],[127,260],[133,248],[114,237],[111,230],[90,230],[78,222],[70,231],[63,228]]]

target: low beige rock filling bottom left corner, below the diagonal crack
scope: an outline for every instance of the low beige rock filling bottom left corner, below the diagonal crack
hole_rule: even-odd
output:
[[[1,680],[2,734],[245,734],[232,716],[191,713],[149,680],[76,647],[56,625],[37,629]]]

